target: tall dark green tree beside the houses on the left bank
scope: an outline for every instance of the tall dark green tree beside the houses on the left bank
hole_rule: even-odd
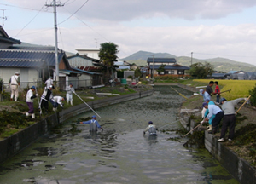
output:
[[[113,73],[113,62],[117,61],[119,53],[118,45],[114,43],[101,43],[99,58],[102,60],[103,72],[105,72],[105,82],[111,78]]]

